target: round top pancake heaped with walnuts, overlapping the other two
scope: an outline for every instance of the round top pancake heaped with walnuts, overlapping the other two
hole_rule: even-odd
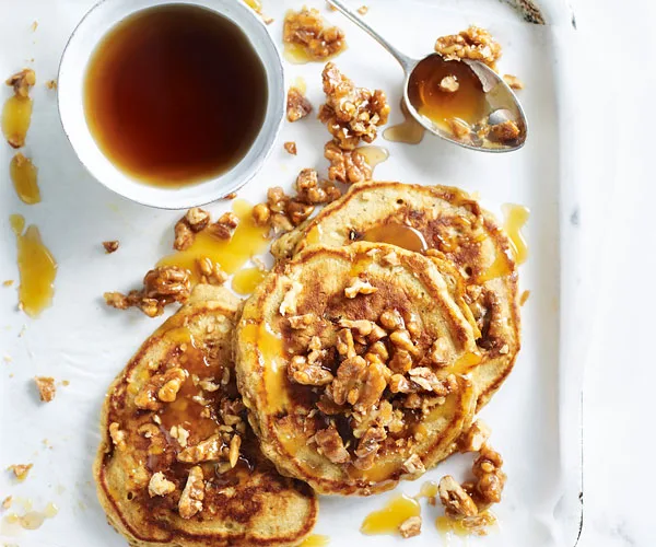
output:
[[[313,247],[246,302],[237,383],[282,474],[371,494],[453,452],[476,392],[452,371],[476,342],[462,284],[440,265],[386,244]]]

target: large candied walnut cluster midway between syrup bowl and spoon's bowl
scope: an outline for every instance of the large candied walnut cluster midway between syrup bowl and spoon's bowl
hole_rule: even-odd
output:
[[[373,142],[377,127],[385,125],[389,116],[385,93],[356,88],[332,62],[326,65],[321,78],[326,103],[319,108],[319,119],[335,143],[342,150],[353,150],[361,140]]]

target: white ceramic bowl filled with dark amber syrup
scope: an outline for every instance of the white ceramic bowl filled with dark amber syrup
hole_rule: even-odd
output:
[[[280,54],[235,0],[104,0],[71,35],[58,83],[61,124],[89,172],[166,209],[241,188],[284,117]]]

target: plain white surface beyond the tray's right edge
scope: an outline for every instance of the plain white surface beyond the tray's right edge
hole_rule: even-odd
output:
[[[649,277],[656,267],[656,185],[654,114],[647,105],[656,83],[656,3],[573,0],[573,8],[585,62],[582,114],[590,124],[582,159],[583,226],[588,248],[597,252],[588,268],[597,309],[588,315],[595,324],[585,372],[585,517],[578,545],[652,547],[656,359],[649,345],[656,293]]]

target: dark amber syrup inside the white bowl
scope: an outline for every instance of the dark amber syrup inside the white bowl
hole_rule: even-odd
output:
[[[195,5],[142,10],[97,46],[84,112],[103,153],[140,182],[180,186],[238,163],[257,137],[267,75],[244,32]]]

